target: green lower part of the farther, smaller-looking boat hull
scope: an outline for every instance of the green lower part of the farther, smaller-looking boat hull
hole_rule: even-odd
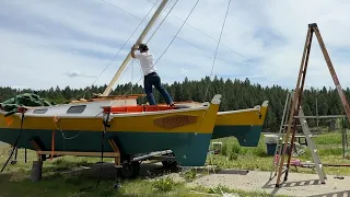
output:
[[[242,147],[257,147],[262,126],[215,126],[211,139],[234,136]]]

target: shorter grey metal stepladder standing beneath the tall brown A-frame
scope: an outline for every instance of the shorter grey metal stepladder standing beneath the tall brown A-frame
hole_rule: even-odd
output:
[[[285,121],[288,120],[288,117],[287,117],[288,114],[287,113],[289,113],[290,109],[291,109],[290,108],[291,107],[291,101],[293,101],[292,97],[293,97],[293,92],[289,92],[287,94],[287,99],[285,99],[284,111],[283,111],[283,115],[282,115],[282,120],[281,120],[281,125],[280,125],[278,139],[280,139],[285,134],[285,127],[288,126],[285,124]],[[305,135],[307,148],[311,151],[311,154],[312,154],[312,158],[313,158],[313,161],[314,161],[314,164],[315,164],[316,172],[318,174],[319,181],[320,181],[322,184],[325,184],[326,183],[325,179],[327,179],[327,176],[326,176],[326,174],[324,172],[323,164],[322,164],[319,155],[317,153],[316,146],[315,146],[314,141],[311,138],[312,134],[310,131],[310,128],[308,128],[308,125],[307,125],[303,108],[301,106],[300,106],[300,109],[299,109],[298,117],[293,117],[293,118],[298,118],[300,120],[303,134]],[[296,126],[296,124],[295,124],[295,126]],[[273,167],[272,167],[272,171],[270,172],[270,181],[277,175],[277,165],[278,165],[278,163],[280,163],[282,146],[280,147],[280,149],[278,151],[279,147],[280,147],[280,140],[278,140],[278,143],[277,143],[277,147],[276,147],[276,150],[275,150],[275,155],[278,155],[278,158],[277,159],[276,159],[276,157],[272,158],[272,166]],[[292,146],[292,147],[294,147],[294,146]],[[290,150],[290,151],[293,151],[293,150]],[[278,154],[277,154],[277,152],[278,152]],[[278,160],[278,162],[276,162],[276,160]],[[282,171],[282,173],[284,173],[285,170],[287,169],[284,169]],[[275,176],[272,176],[272,172],[275,172]]]

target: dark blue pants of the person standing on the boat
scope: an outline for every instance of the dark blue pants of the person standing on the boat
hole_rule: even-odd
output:
[[[147,100],[149,101],[150,105],[156,105],[153,93],[152,93],[152,85],[154,85],[154,88],[161,93],[166,104],[173,103],[172,97],[162,85],[161,78],[158,76],[156,72],[152,72],[144,76],[143,85],[144,85],[144,92],[147,94]]]

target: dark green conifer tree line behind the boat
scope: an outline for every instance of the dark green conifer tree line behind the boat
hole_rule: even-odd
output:
[[[55,103],[69,103],[71,100],[93,97],[93,93],[103,93],[107,85],[92,85],[84,89],[71,89],[66,86],[60,89],[50,88],[49,90],[15,90],[9,86],[0,86],[0,102],[3,102],[16,94],[36,91],[36,93],[49,101]],[[201,80],[188,80],[185,78],[184,81],[175,81],[172,84],[164,84],[165,89],[170,92],[174,101],[196,101],[203,102],[210,101],[214,94],[222,94],[222,103],[220,111],[233,111],[250,108],[256,105],[261,105],[264,101],[269,101],[269,107],[267,117],[264,124],[264,128],[269,131],[278,131],[283,114],[284,102],[287,93],[291,90],[283,89],[279,85],[261,86],[258,83],[250,83],[248,79],[242,80],[223,80],[222,78],[214,77],[210,80],[209,77],[202,78]],[[208,92],[207,92],[208,90]],[[350,89],[347,88],[345,94],[349,101]],[[207,92],[207,95],[206,95]],[[144,93],[142,85],[138,84],[118,84],[110,94],[124,95],[124,94],[140,94]],[[154,97],[158,103],[165,103],[160,96],[158,91],[154,91]],[[307,89],[303,93],[302,107],[305,115],[316,115],[316,100],[317,100],[317,113],[318,115],[343,115],[340,97],[338,92],[334,88],[323,89]],[[145,103],[145,97],[138,100],[140,104]],[[329,119],[320,119],[319,126],[329,126]],[[308,120],[311,127],[316,126],[316,120]],[[346,123],[346,127],[349,124]]]

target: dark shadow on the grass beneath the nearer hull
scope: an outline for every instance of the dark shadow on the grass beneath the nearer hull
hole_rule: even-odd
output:
[[[30,167],[20,167],[21,163],[13,164],[11,167],[14,165],[19,165],[16,169],[20,171],[4,171],[0,174],[1,196],[139,196],[138,194],[126,195],[125,190],[130,190],[129,187],[132,186],[129,181],[118,178],[118,171],[113,163],[103,163],[101,170],[101,163],[57,159],[47,163],[48,166],[43,166],[43,178],[36,183],[30,179]],[[167,173],[165,169],[158,166],[143,164],[141,176],[137,182]],[[101,179],[96,188],[98,178]],[[91,189],[80,190],[89,187]]]

